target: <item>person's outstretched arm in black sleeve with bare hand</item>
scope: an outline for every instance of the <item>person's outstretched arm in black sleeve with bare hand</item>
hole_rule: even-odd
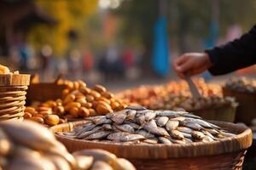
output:
[[[224,75],[256,63],[256,26],[240,38],[204,53],[187,53],[177,58],[173,67],[178,77],[194,76],[203,71]]]

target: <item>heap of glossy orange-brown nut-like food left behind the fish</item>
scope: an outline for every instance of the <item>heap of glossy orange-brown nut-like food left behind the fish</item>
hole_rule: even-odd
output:
[[[26,108],[26,119],[49,126],[65,122],[65,118],[105,115],[127,106],[101,85],[88,88],[82,81],[67,82],[61,99],[49,100]],[[61,117],[61,118],[60,118]]]

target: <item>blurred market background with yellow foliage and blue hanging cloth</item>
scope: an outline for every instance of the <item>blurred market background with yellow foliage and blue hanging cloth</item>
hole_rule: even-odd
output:
[[[1,0],[0,62],[44,82],[60,74],[114,89],[168,82],[177,80],[173,59],[240,37],[255,15],[255,0]]]

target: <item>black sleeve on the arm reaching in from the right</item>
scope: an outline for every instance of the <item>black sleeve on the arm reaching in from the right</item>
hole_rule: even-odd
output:
[[[223,46],[206,50],[213,66],[212,75],[222,75],[256,63],[256,26],[252,30]]]

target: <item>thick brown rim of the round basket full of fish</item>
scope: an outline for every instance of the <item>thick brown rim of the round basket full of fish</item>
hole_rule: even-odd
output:
[[[79,122],[67,122],[55,127],[50,127],[49,130],[52,133],[61,132],[60,129],[68,128],[72,130],[73,127],[83,124],[86,121]],[[140,152],[140,154],[133,155],[132,158],[145,158],[145,159],[160,159],[160,158],[171,158],[171,157],[192,157],[192,156],[209,156],[219,155],[246,150],[252,145],[253,135],[250,128],[241,124],[234,124],[230,122],[215,122],[220,127],[235,128],[239,133],[235,137],[229,137],[220,139],[212,143],[197,142],[193,144],[121,144],[113,143],[109,144],[106,142],[92,142],[81,139],[69,139],[67,137],[55,134],[57,139],[66,144],[73,144],[74,146],[82,145],[85,148],[99,148],[106,149],[112,148],[113,153],[117,151],[120,155],[124,152],[124,157],[127,157],[127,153]],[[224,126],[226,125],[226,126]],[[232,131],[231,131],[232,132]],[[157,154],[154,154],[154,153]],[[144,156],[141,156],[143,155]],[[116,154],[116,153],[114,153]],[[162,155],[161,155],[162,154]]]

